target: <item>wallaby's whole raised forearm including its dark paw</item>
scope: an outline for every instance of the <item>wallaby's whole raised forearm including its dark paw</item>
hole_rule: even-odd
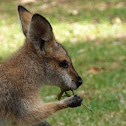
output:
[[[79,96],[74,95],[59,102],[41,104],[38,107],[33,107],[30,110],[27,110],[19,121],[22,126],[38,124],[58,110],[80,106],[82,100],[83,99]]]

